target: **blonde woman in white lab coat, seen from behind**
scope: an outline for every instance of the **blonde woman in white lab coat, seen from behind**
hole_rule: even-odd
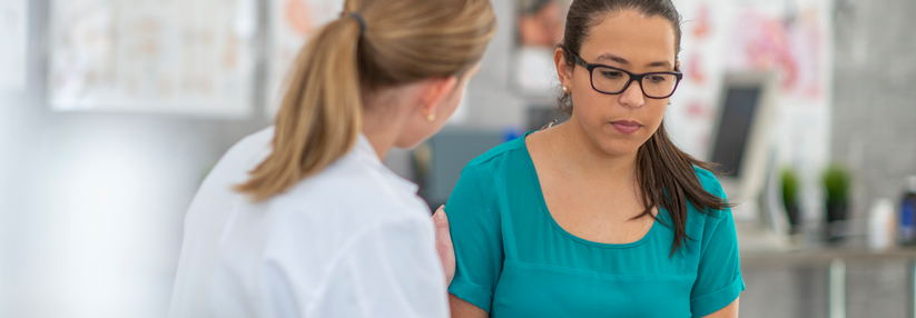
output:
[[[447,317],[430,210],[381,159],[442,128],[494,32],[489,0],[347,1],[200,186],[169,316]]]

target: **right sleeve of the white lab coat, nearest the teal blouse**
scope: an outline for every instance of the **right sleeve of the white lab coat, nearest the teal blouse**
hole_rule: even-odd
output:
[[[306,317],[449,317],[430,219],[374,227],[342,254]]]

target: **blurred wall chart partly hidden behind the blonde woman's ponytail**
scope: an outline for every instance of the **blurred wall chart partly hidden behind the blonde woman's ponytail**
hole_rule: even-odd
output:
[[[268,116],[279,109],[285,79],[296,56],[313,32],[344,9],[344,0],[270,0],[270,50],[267,59]]]

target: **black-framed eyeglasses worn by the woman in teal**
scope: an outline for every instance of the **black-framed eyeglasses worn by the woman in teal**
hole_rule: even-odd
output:
[[[573,51],[567,50],[575,58],[575,63],[589,70],[592,88],[601,93],[618,95],[627,90],[631,82],[639,82],[642,95],[648,98],[662,99],[674,95],[683,73],[681,72],[648,72],[634,74],[629,71],[604,64],[585,62]]]

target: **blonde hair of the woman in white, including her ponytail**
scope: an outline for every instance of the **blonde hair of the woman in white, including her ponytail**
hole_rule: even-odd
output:
[[[495,31],[490,0],[346,1],[341,18],[299,51],[277,113],[274,151],[235,189],[263,201],[324,170],[355,143],[366,92],[460,77]]]

